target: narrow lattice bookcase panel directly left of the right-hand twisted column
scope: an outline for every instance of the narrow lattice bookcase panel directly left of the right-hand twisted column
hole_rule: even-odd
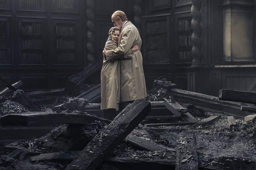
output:
[[[192,29],[191,29],[192,17],[180,18],[178,20],[178,44],[179,44],[179,56],[180,61],[192,61]]]

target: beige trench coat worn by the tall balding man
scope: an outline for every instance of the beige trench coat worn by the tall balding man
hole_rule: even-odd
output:
[[[138,44],[141,48],[141,38],[137,28],[128,21],[122,27],[118,39],[118,48],[106,51],[107,60],[111,61],[121,56],[130,56],[130,60],[120,60],[120,102],[143,99],[147,96],[146,83],[140,50],[130,53],[130,48]]]

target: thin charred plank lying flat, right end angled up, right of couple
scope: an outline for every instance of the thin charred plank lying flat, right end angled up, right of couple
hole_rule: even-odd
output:
[[[146,127],[159,127],[159,126],[186,126],[186,125],[206,125],[211,124],[215,120],[220,119],[221,116],[210,116],[203,119],[201,122],[175,122],[175,123],[163,123],[163,124],[145,124]]]

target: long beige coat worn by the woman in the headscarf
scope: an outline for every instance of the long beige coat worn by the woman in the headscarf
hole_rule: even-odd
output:
[[[113,41],[107,41],[105,44],[106,50],[117,48],[117,44]],[[107,61],[103,57],[103,65],[101,69],[101,110],[117,109],[120,102],[120,61],[122,59],[131,60],[132,50],[130,49],[129,56],[122,56],[120,60]]]

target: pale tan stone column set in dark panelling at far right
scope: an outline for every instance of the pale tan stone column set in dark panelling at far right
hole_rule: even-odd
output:
[[[253,0],[224,0],[224,62],[230,63],[254,61],[253,7]]]

